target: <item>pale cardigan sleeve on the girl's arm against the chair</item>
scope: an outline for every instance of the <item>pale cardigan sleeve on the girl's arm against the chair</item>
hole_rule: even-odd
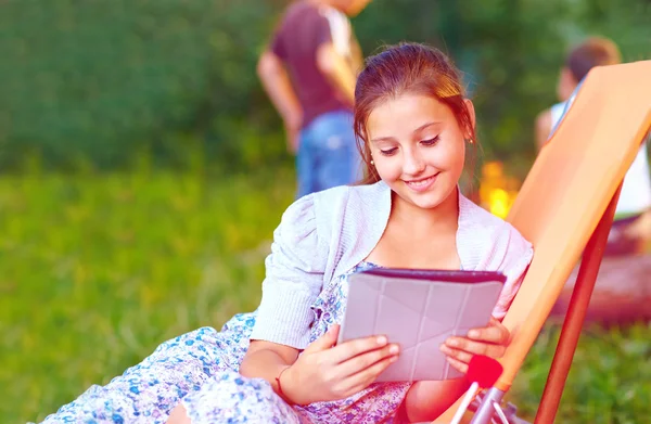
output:
[[[493,309],[493,316],[502,320],[522,284],[525,271],[534,256],[534,249],[532,244],[507,222],[495,240],[495,247],[497,270],[507,277],[507,282]]]

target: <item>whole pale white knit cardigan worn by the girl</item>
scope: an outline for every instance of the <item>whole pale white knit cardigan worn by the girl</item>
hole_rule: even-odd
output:
[[[293,203],[273,233],[265,265],[263,299],[252,339],[305,349],[321,291],[366,259],[382,236],[392,191],[371,185],[337,187]],[[507,277],[493,314],[501,319],[532,260],[533,248],[508,222],[459,195],[457,249],[464,270]]]

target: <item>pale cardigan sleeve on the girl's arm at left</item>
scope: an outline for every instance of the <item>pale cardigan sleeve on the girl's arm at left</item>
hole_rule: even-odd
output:
[[[314,195],[307,195],[285,210],[273,232],[251,339],[307,347],[314,320],[310,305],[321,292],[327,261],[327,252],[320,250]]]

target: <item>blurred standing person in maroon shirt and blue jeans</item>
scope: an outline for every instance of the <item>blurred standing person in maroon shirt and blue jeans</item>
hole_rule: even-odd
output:
[[[347,16],[369,2],[294,2],[260,55],[258,76],[297,155],[297,197],[361,177],[352,108],[362,56]]]

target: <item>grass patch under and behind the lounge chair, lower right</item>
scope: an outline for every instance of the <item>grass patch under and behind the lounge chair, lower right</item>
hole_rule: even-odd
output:
[[[533,422],[560,327],[542,331],[515,378],[510,400]],[[651,325],[584,330],[557,423],[637,424],[651,416]]]

